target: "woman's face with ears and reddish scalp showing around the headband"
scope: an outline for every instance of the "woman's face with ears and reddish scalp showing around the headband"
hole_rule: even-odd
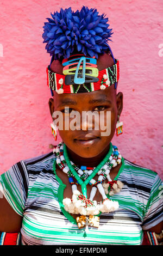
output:
[[[108,54],[104,54],[97,61],[98,70],[103,70],[113,64]],[[51,70],[62,74],[62,65],[59,61],[55,61],[54,65],[51,65]],[[49,99],[51,115],[56,111],[61,113],[63,127],[57,132],[73,153],[77,153],[80,157],[91,158],[109,147],[115,134],[117,115],[121,114],[123,107],[123,94],[116,95],[114,84],[104,90],[90,93],[58,94],[53,90],[53,94],[53,99]],[[86,112],[89,113],[89,118],[86,117]]]

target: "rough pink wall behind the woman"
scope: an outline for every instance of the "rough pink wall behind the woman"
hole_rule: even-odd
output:
[[[2,2],[2,1],[1,1]],[[0,33],[0,174],[17,161],[51,151],[53,143],[46,84],[50,56],[42,44],[46,17],[82,5],[109,17],[110,43],[120,60],[118,92],[124,93],[124,133],[114,137],[123,157],[162,173],[163,2],[160,0],[5,0]],[[163,46],[163,45],[162,45]],[[160,53],[159,53],[160,52]],[[59,142],[58,139],[57,142]]]

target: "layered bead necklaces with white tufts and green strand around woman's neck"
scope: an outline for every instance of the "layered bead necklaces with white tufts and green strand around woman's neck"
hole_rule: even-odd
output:
[[[70,161],[68,159],[66,145],[63,142],[60,142],[57,145],[57,147],[53,150],[53,153],[56,155],[56,163],[58,164],[59,168],[67,174],[68,180],[70,181],[72,187],[72,199],[65,198],[62,201],[66,211],[68,211],[70,214],[82,214],[84,216],[90,215],[93,218],[94,215],[98,215],[100,212],[110,212],[118,209],[118,202],[112,201],[106,196],[106,194],[108,194],[109,186],[111,188],[111,193],[119,192],[123,186],[121,181],[112,181],[109,175],[111,168],[121,163],[122,156],[120,155],[120,152],[118,152],[116,146],[112,146],[110,143],[108,154],[106,154],[103,161],[99,163],[96,168],[79,168],[79,166]],[[93,179],[96,174],[99,175],[98,181]],[[77,182],[73,181],[73,177],[76,178]],[[107,179],[108,182],[102,185],[102,182],[105,179]],[[86,196],[87,184],[92,186],[89,199],[87,199]],[[81,185],[82,193],[77,190],[78,185]],[[100,203],[93,200],[97,189],[103,197],[103,200]],[[90,223],[92,223],[92,218]],[[78,225],[78,227],[79,226],[81,227],[81,225]]]

